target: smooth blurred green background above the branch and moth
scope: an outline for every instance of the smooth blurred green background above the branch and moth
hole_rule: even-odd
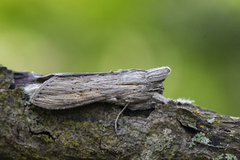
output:
[[[164,96],[240,116],[240,2],[1,0],[0,63],[39,74],[169,66]]]

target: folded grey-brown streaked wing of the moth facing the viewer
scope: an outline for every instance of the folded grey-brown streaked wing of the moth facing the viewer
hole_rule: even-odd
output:
[[[98,87],[84,77],[54,76],[33,93],[30,101],[47,109],[73,108],[106,100],[110,95]]]

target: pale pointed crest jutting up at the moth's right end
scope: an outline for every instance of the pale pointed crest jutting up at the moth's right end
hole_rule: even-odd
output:
[[[150,82],[164,81],[170,74],[169,67],[160,67],[147,70],[146,78]]]

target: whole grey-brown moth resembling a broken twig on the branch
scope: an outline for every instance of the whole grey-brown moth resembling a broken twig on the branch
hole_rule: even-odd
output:
[[[169,67],[161,67],[109,73],[55,73],[38,76],[24,90],[31,103],[46,109],[108,102],[122,106],[129,103],[129,109],[143,110],[167,103],[162,82],[170,72]]]

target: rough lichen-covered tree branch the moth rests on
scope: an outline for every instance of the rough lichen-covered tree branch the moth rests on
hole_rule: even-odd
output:
[[[23,93],[33,79],[0,67],[1,159],[240,159],[237,117],[169,101],[155,109],[126,109],[116,135],[121,106],[40,108]]]

